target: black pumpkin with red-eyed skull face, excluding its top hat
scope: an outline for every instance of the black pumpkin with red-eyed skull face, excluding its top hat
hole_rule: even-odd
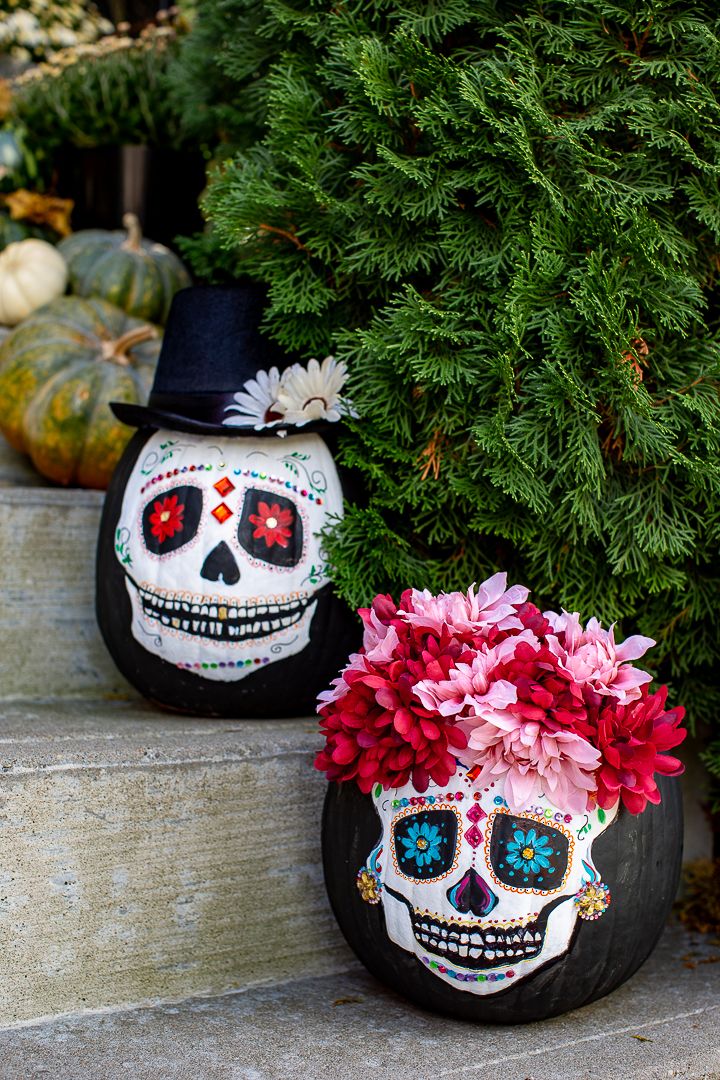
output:
[[[179,712],[313,712],[358,644],[316,536],[341,512],[317,434],[140,429],[98,540],[97,616],[120,671]]]

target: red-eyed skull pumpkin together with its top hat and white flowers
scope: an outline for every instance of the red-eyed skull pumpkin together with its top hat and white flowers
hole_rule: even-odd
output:
[[[356,636],[320,537],[342,514],[343,373],[288,366],[261,301],[178,294],[148,406],[116,407],[139,430],[105,503],[100,630],[141,693],[199,715],[301,715]]]

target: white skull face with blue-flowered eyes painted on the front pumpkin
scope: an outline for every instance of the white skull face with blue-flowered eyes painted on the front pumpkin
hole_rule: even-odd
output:
[[[578,918],[610,902],[590,848],[616,808],[572,816],[540,796],[512,813],[503,788],[477,791],[459,767],[445,788],[373,795],[382,837],[357,876],[395,944],[479,995],[567,953]]]

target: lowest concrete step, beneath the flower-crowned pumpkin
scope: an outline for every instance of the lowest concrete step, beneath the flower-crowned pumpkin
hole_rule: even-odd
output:
[[[341,975],[0,1032],[3,1080],[661,1080],[720,1077],[720,950],[671,928],[585,1009],[521,1027],[432,1016]]]

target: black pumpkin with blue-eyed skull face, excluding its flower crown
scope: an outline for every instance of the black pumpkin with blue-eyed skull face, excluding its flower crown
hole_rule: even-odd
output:
[[[331,784],[323,860],[340,928],[379,980],[456,1018],[587,1004],[643,963],[676,894],[681,793],[657,780],[662,804],[637,816],[572,816],[544,797],[513,814],[502,780],[476,794],[462,767],[422,796]]]

